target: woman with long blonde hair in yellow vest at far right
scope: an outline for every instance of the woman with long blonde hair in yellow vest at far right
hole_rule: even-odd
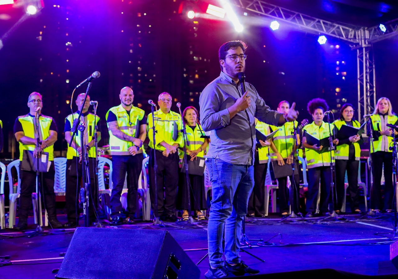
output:
[[[370,116],[373,130],[373,144],[371,144],[371,159],[373,173],[373,187],[371,188],[371,210],[380,213],[392,212],[394,188],[392,185],[392,150],[390,143],[397,135],[387,124],[397,125],[398,117],[392,112],[390,100],[386,97],[378,99],[375,111]],[[384,207],[381,195],[381,177],[384,164]]]

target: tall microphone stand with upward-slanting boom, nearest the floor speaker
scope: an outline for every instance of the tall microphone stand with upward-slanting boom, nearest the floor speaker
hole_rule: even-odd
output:
[[[88,92],[90,91],[92,83],[89,82],[86,90],[86,94],[84,95],[83,103],[86,103]],[[82,199],[83,203],[83,216],[84,216],[84,226],[90,226],[90,215],[89,215],[89,197],[91,195],[90,191],[90,172],[89,172],[89,162],[88,162],[88,153],[86,149],[86,140],[84,138],[84,133],[86,130],[86,123],[80,123],[80,117],[82,116],[83,109],[80,109],[79,115],[73,121],[72,125],[72,137],[69,141],[69,146],[72,144],[72,140],[76,135],[76,130],[80,131],[80,143],[82,147],[82,178],[83,178],[83,185],[84,188],[80,189],[80,198]]]

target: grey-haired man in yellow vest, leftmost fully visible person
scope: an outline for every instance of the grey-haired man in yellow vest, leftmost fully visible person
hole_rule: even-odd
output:
[[[31,158],[39,158],[41,162],[47,162],[47,172],[39,173],[39,185],[41,194],[44,195],[44,208],[47,211],[48,220],[52,228],[61,228],[62,224],[57,220],[54,193],[54,143],[57,141],[57,125],[52,117],[41,114],[43,108],[42,96],[38,92],[29,95],[27,106],[29,113],[18,116],[14,123],[14,135],[20,143],[20,208],[18,225],[15,230],[27,229],[27,217],[32,206],[32,193],[36,191],[36,171],[27,168],[27,165],[36,163]],[[36,129],[36,115],[39,119],[39,131]],[[37,137],[40,145],[37,146]],[[31,156],[33,155],[33,156]],[[48,158],[47,158],[48,156]],[[29,162],[24,164],[26,162]]]

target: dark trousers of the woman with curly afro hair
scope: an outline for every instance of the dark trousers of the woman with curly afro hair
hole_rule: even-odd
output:
[[[307,212],[314,213],[316,211],[316,203],[318,200],[318,191],[320,183],[320,202],[319,211],[329,211],[331,197],[331,172],[330,166],[316,167],[308,169],[308,192],[305,207]],[[330,205],[332,210],[332,205]]]

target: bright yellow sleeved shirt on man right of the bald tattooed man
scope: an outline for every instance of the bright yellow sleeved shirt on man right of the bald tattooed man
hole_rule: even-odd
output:
[[[156,140],[156,150],[166,150],[166,148],[159,143],[164,141],[170,145],[174,143],[178,143],[179,147],[183,146],[183,138],[182,138],[182,123],[181,123],[181,115],[174,111],[170,111],[169,113],[163,113],[162,110],[158,109],[154,112],[154,123],[156,128],[155,140]],[[152,113],[148,114],[147,118],[147,132],[149,139],[149,147],[154,148],[153,146],[153,128],[152,128]]]

